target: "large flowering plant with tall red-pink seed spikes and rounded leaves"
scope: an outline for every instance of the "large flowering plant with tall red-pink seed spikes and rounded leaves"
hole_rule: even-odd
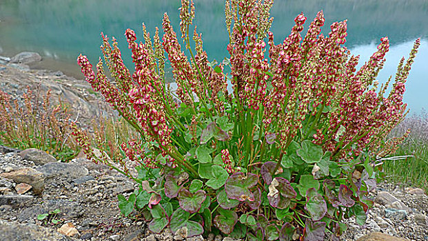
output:
[[[306,17],[299,14],[291,34],[275,44],[268,32],[273,1],[231,0],[225,7],[230,59],[210,63],[201,35],[196,28],[190,34],[194,4],[181,3],[190,58],[167,14],[162,41],[157,28],[152,41],[143,25],[145,43],[126,30],[133,74],[116,40],[110,45],[102,34],[116,84],[106,78],[101,58],[97,74],[86,56],[78,58],[86,81],[139,133],[120,143],[124,158],[116,165],[103,151],[94,156],[74,127],[90,158],[140,183],[129,198],[119,196],[122,213],[140,211],[151,231],[169,227],[185,238],[221,231],[248,240],[323,240],[327,232],[338,240],[343,218],[363,224],[373,205],[367,195],[376,185],[376,158],[402,140],[385,137],[406,114],[402,95],[420,40],[384,97],[390,80],[377,90],[376,76],[387,37],[356,71],[358,56],[343,47],[346,21],[323,36],[318,12],[303,38]],[[165,82],[165,53],[176,90]],[[126,162],[138,163],[138,175]]]

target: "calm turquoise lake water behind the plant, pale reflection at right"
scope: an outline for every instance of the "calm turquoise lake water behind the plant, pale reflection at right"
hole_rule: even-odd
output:
[[[221,61],[229,57],[224,1],[194,2],[194,23],[198,32],[203,33],[208,58]],[[179,7],[179,0],[0,0],[0,55],[39,52],[44,61],[35,67],[61,70],[83,78],[77,56],[83,53],[95,64],[101,55],[101,32],[116,36],[125,61],[131,63],[123,36],[125,30],[132,28],[139,40],[143,40],[141,23],[154,34],[154,28],[161,28],[163,13],[167,12],[174,30],[179,31]],[[348,19],[345,45],[352,54],[360,54],[360,65],[376,51],[381,37],[389,37],[391,48],[378,76],[380,82],[394,76],[400,58],[407,58],[414,41],[421,38],[405,101],[411,112],[420,112],[422,107],[428,109],[427,0],[276,0],[271,11],[274,17],[271,31],[276,42],[289,34],[297,14],[305,14],[307,27],[319,10],[325,14],[324,34],[328,34],[329,25],[334,21]]]

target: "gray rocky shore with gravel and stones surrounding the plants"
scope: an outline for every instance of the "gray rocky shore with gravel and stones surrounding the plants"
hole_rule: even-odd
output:
[[[88,83],[62,72],[30,70],[26,63],[0,56],[0,90],[19,99],[26,86],[42,93],[52,89],[52,100],[61,96],[79,118],[101,113],[100,98]],[[60,163],[43,151],[0,147],[0,240],[184,240],[169,230],[149,233],[142,218],[121,215],[117,195],[129,196],[134,189],[125,176],[85,158]],[[428,196],[422,189],[383,182],[371,198],[375,205],[366,224],[346,220],[341,240],[428,240]],[[56,209],[59,222],[53,223],[49,217]],[[39,220],[44,213],[51,216]],[[187,240],[233,241],[214,233]]]

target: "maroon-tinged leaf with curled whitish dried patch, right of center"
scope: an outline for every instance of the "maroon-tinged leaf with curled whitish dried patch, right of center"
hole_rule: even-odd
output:
[[[296,191],[294,191],[289,180],[285,178],[274,178],[269,185],[269,193],[267,199],[272,207],[278,209],[285,209],[289,206],[291,199],[296,198]]]

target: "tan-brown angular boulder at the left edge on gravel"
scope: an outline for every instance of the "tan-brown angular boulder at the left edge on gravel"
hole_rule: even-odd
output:
[[[40,195],[45,188],[45,176],[40,171],[30,167],[21,168],[17,171],[11,171],[0,174],[3,178],[8,178],[17,183],[27,183],[32,186],[34,194]]]

